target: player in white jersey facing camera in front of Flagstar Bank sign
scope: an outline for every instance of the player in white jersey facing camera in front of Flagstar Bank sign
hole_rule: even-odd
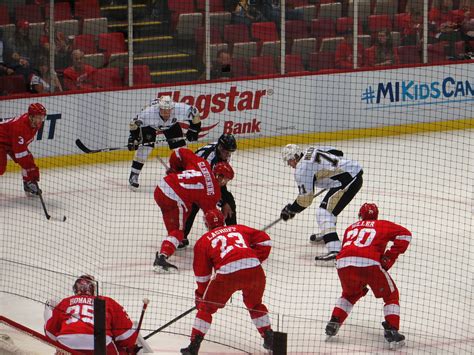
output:
[[[189,125],[186,136],[180,123]],[[201,131],[201,118],[196,107],[173,102],[170,96],[153,100],[130,122],[128,150],[136,150],[128,182],[131,190],[139,187],[138,176],[155,147],[157,132],[163,132],[170,149],[183,147],[186,140],[198,140]],[[186,138],[185,138],[186,137]]]

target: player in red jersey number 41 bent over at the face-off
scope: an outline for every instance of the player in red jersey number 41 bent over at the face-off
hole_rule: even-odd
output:
[[[173,150],[167,175],[155,189],[155,201],[163,213],[168,236],[161,243],[153,264],[156,272],[177,267],[167,261],[184,238],[184,227],[192,205],[206,212],[216,208],[221,199],[220,187],[234,178],[229,163],[220,162],[211,169],[209,163],[188,148]]]

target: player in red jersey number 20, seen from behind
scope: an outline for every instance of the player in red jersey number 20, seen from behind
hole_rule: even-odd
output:
[[[385,302],[384,336],[395,349],[405,345],[400,327],[399,294],[395,282],[388,274],[400,254],[411,241],[405,227],[390,221],[378,220],[379,210],[374,203],[365,203],[359,210],[359,222],[344,233],[342,249],[337,255],[337,273],[342,286],[342,296],[336,302],[326,335],[333,337],[346,320],[356,302],[372,290],[376,298]],[[387,244],[393,244],[387,250]]]

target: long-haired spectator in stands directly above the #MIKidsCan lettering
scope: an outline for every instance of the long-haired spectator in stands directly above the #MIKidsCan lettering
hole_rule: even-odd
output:
[[[377,33],[372,47],[365,51],[368,66],[396,65],[399,63],[397,49],[393,48],[392,34],[388,30]]]

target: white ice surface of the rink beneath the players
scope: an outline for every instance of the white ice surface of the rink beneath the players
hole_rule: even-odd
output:
[[[364,169],[361,191],[338,218],[340,237],[357,220],[364,202],[377,203],[381,219],[413,233],[410,248],[390,270],[401,295],[400,331],[407,339],[397,353],[473,353],[473,138],[474,132],[466,130],[329,143]],[[34,144],[31,148],[34,152]],[[295,199],[293,171],[282,162],[280,149],[234,153],[236,178],[229,190],[237,202],[239,223],[263,228]],[[150,159],[140,190],[131,192],[129,165],[42,171],[49,213],[66,215],[66,222],[46,220],[40,202],[24,197],[18,173],[0,178],[0,282],[1,290],[9,292],[0,294],[0,314],[42,332],[42,302],[70,295],[75,277],[83,273],[95,275],[99,292],[118,300],[134,320],[141,300],[151,300],[143,335],[194,305],[192,248],[170,259],[179,273],[152,271],[154,254],[166,235],[153,200],[164,169]],[[334,267],[314,264],[314,256],[325,248],[308,242],[309,235],[318,232],[319,199],[268,231],[274,247],[264,263],[264,302],[273,329],[288,333],[289,354],[393,353],[383,340],[383,301],[372,293],[356,304],[339,334],[324,341],[340,286]],[[204,232],[200,216],[191,245]],[[194,314],[151,337],[155,353],[177,354],[187,346]],[[206,340],[201,354],[264,353],[239,295],[214,316]]]

